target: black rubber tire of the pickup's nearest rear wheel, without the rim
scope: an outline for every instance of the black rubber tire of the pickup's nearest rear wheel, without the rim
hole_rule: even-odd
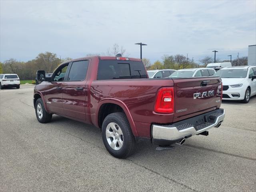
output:
[[[108,140],[106,138],[107,126],[112,122],[117,124],[119,126],[118,129],[121,128],[122,131],[122,136],[118,136],[118,138],[122,139],[123,142],[122,147],[119,150],[114,150],[110,144],[108,144]],[[106,116],[102,124],[102,140],[108,152],[116,158],[126,158],[132,155],[136,150],[135,137],[132,134],[128,119],[123,112],[116,112]]]

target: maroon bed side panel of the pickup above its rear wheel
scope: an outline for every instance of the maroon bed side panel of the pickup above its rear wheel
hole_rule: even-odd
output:
[[[92,123],[98,126],[98,109],[112,99],[127,106],[138,136],[150,137],[152,122],[172,122],[173,114],[157,114],[154,104],[158,89],[174,86],[172,79],[95,80],[90,85],[90,114]],[[126,114],[127,115],[127,114]],[[130,123],[131,124],[131,123]],[[132,126],[132,125],[131,125]]]

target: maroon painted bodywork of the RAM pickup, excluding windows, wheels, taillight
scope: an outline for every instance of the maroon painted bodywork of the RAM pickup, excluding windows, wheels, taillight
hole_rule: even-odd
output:
[[[34,97],[43,97],[46,110],[50,113],[98,125],[98,115],[102,104],[119,105],[125,112],[134,136],[151,138],[152,123],[168,124],[220,108],[220,94],[212,97],[193,99],[196,92],[221,89],[219,77],[182,78],[182,79],[117,79],[97,80],[99,60],[116,60],[116,57],[87,57],[78,60],[90,60],[86,79],[79,82],[43,82],[35,87]],[[133,61],[141,61],[129,58]],[[201,87],[200,83],[209,81]],[[61,87],[60,90],[57,88]],[[82,87],[82,91],[75,90]],[[174,87],[174,113],[154,112],[158,90],[162,87]],[[178,110],[187,109],[183,112]]]

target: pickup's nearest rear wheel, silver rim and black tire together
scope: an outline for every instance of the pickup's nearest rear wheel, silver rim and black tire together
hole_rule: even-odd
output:
[[[116,158],[126,158],[136,149],[136,140],[123,112],[106,116],[102,124],[102,140],[108,152]]]

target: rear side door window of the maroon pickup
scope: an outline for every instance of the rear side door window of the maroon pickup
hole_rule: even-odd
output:
[[[68,74],[68,81],[82,81],[86,77],[89,61],[72,62],[70,72]]]

